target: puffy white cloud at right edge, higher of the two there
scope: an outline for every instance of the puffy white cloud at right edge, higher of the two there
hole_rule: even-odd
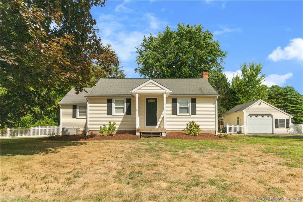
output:
[[[274,62],[291,59],[303,61],[303,39],[291,39],[289,44],[284,47],[283,50],[278,46],[271,54],[268,55],[268,59],[271,59]]]

